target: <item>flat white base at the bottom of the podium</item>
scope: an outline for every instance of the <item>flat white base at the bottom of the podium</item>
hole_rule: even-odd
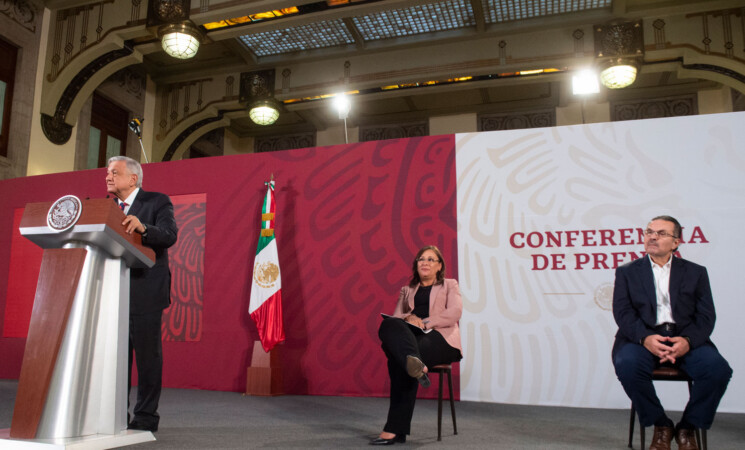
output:
[[[59,439],[11,439],[10,428],[0,430],[0,448],[3,450],[100,450],[124,447],[154,441],[149,431],[125,430],[119,434],[94,434],[76,438]]]

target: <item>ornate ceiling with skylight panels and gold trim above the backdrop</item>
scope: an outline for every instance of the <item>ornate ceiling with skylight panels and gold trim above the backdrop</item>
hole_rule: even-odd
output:
[[[51,9],[91,4],[46,3]],[[178,0],[165,2],[174,3]],[[730,67],[724,72],[731,73],[719,78],[699,77],[704,65],[692,66],[696,58],[685,61],[692,58],[689,52],[696,57],[722,55],[724,63],[716,67],[727,66],[726,58],[743,64],[745,13],[737,0],[185,4],[190,19],[206,36],[197,56],[186,61],[171,58],[151,33],[133,41],[143,55],[140,67],[159,89],[214,80],[223,86],[227,79],[227,87],[219,88],[225,98],[228,91],[237,97],[231,80],[237,84],[247,72],[274,70],[275,98],[284,103],[275,125],[260,127],[247,114],[224,110],[229,116],[226,126],[241,137],[337,126],[339,119],[326,97],[343,91],[353,94],[350,127],[565,106],[577,101],[571,93],[571,74],[597,61],[595,25],[611,22],[643,21],[644,65],[630,88],[604,89],[593,101],[695,93],[745,72]],[[723,30],[725,35],[729,30],[724,40]],[[694,70],[683,70],[685,66]]]

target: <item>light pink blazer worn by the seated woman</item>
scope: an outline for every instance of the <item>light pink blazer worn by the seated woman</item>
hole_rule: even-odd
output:
[[[419,289],[404,286],[398,295],[398,303],[393,312],[394,317],[405,318],[414,310],[414,296]],[[452,278],[445,278],[442,284],[435,284],[429,293],[429,317],[427,328],[437,330],[451,347],[463,351],[460,344],[460,329],[458,321],[463,312],[463,300],[460,297],[458,282]]]

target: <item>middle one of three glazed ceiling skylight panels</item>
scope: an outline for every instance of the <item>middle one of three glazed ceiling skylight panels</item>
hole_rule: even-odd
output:
[[[476,24],[465,0],[417,5],[353,17],[365,41],[470,27]]]

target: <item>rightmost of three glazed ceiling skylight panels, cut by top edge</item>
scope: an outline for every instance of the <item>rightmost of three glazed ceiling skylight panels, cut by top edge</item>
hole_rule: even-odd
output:
[[[612,0],[481,0],[487,23],[608,8]]]

